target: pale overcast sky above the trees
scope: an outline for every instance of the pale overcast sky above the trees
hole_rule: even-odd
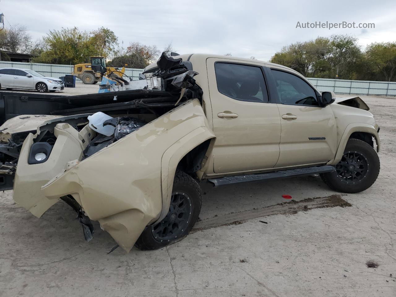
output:
[[[107,27],[119,42],[141,42],[178,53],[232,53],[268,61],[287,44],[331,34],[353,34],[364,48],[396,41],[392,1],[101,1],[1,0],[5,26],[26,25],[34,39],[50,29]],[[375,29],[299,29],[297,22],[375,23]]]

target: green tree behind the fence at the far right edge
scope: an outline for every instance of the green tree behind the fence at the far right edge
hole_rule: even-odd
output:
[[[375,67],[378,76],[390,82],[396,72],[396,42],[369,44],[366,48],[367,60]]]

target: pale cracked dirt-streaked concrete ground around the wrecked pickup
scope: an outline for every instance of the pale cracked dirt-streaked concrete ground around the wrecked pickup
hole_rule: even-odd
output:
[[[396,99],[362,98],[381,126],[381,172],[368,190],[343,196],[352,207],[261,217],[197,231],[160,250],[107,255],[114,241],[98,223],[85,242],[66,204],[37,219],[6,191],[0,296],[394,297]],[[316,177],[202,187],[202,219],[285,202],[283,194],[295,200],[335,194]],[[367,268],[369,260],[379,267]]]

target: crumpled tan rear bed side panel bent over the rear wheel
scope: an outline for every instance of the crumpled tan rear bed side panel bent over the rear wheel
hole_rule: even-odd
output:
[[[200,135],[204,140],[214,137],[198,99],[183,103],[78,162],[44,185],[42,192],[48,198],[72,195],[86,215],[99,221],[128,252],[144,228],[160,217],[163,196],[169,195],[168,180],[162,172],[169,172],[169,164],[173,168],[169,156],[167,162],[162,159],[178,143],[185,151],[179,152],[177,160],[194,148],[194,141],[186,145],[185,140],[191,139],[187,135]],[[163,193],[165,181],[167,192]]]

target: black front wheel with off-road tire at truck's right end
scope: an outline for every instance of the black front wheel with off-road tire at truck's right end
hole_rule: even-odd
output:
[[[368,143],[349,139],[335,171],[320,175],[333,190],[358,193],[371,187],[378,177],[380,162],[377,152]]]

